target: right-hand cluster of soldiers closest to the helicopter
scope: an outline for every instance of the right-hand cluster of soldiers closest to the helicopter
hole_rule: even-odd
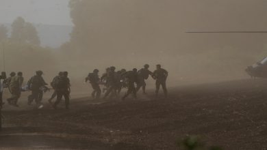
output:
[[[101,96],[101,88],[99,85],[104,85],[103,99],[107,96],[110,98],[118,97],[122,88],[127,88],[127,92],[122,97],[122,100],[125,100],[130,94],[136,98],[136,93],[141,89],[143,94],[146,94],[146,80],[151,76],[155,79],[156,90],[155,94],[157,95],[162,86],[165,97],[167,97],[168,92],[166,89],[166,79],[168,77],[168,72],[162,69],[161,65],[156,65],[156,70],[151,72],[149,70],[149,65],[146,64],[140,70],[133,68],[133,70],[126,71],[125,69],[119,70],[116,72],[116,67],[107,67],[105,73],[99,78],[99,70],[94,70],[92,73],[88,74],[86,82],[90,81],[92,85],[92,97],[99,99]]]

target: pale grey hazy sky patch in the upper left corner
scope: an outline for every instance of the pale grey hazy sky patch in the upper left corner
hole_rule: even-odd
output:
[[[0,0],[0,24],[17,16],[36,24],[72,25],[68,0]]]

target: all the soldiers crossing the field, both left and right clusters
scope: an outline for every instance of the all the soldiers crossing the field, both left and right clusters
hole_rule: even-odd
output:
[[[47,82],[42,78],[42,71],[37,71],[35,76],[32,76],[27,85],[23,87],[23,73],[12,72],[10,77],[6,78],[3,81],[3,87],[8,88],[11,97],[7,99],[8,104],[12,106],[18,106],[18,99],[21,97],[22,91],[31,91],[31,95],[28,96],[28,104],[31,105],[32,102],[36,102],[38,108],[42,108],[42,96],[43,93],[48,91]],[[167,89],[166,89],[166,79],[168,77],[168,72],[162,69],[161,65],[156,65],[156,70],[151,72],[149,70],[149,65],[146,64],[140,70],[133,68],[133,70],[127,71],[125,69],[116,71],[116,67],[108,67],[105,73],[99,77],[99,70],[94,70],[92,73],[88,74],[86,77],[86,82],[90,82],[92,85],[92,97],[94,99],[99,100],[101,97],[101,87],[103,85],[103,99],[107,97],[118,98],[121,89],[126,88],[127,92],[123,95],[122,100],[125,100],[130,94],[136,98],[136,93],[141,89],[142,92],[146,94],[146,80],[151,76],[155,79],[156,90],[155,94],[157,95],[162,86],[165,97],[167,97]],[[54,90],[51,98],[49,99],[49,104],[53,106],[53,108],[57,108],[58,104],[62,101],[62,97],[65,100],[66,109],[69,108],[70,103],[70,93],[71,93],[71,83],[68,78],[68,72],[59,72],[55,78],[53,78],[51,82],[51,89]],[[55,102],[52,100],[55,98]]]

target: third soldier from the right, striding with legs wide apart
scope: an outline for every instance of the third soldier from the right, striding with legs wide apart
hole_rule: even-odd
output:
[[[138,73],[137,73],[137,69],[133,68],[132,71],[126,72],[123,76],[125,76],[125,78],[127,78],[127,93],[123,96],[122,100],[125,100],[125,98],[129,95],[129,94],[133,94],[133,97],[136,99],[136,87],[135,87],[135,83],[138,82]]]

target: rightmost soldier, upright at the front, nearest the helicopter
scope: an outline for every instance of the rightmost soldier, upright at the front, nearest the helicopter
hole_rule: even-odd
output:
[[[162,69],[161,65],[157,65],[157,70],[153,72],[153,78],[156,80],[156,95],[158,95],[160,90],[160,85],[162,85],[162,89],[164,91],[165,97],[168,95],[168,91],[166,88],[166,79],[168,77],[168,72]]]

